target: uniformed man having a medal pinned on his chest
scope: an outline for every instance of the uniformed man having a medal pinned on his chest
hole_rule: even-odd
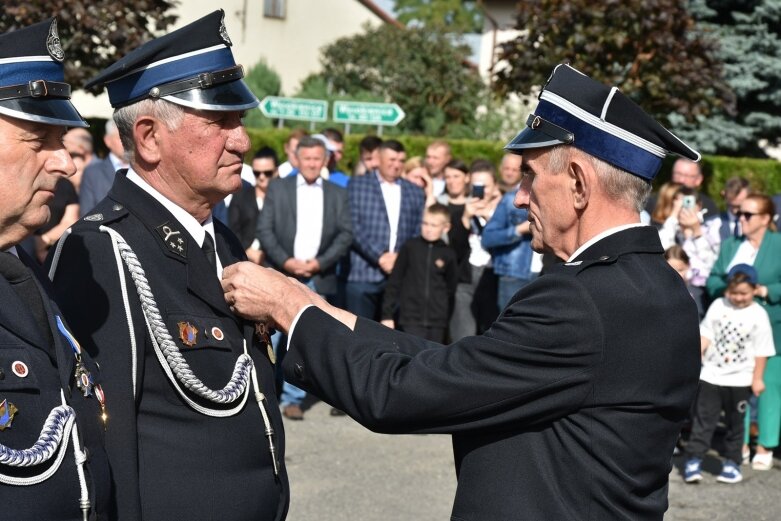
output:
[[[107,86],[130,168],[51,273],[116,396],[106,450],[120,520],[287,512],[273,355],[222,298],[221,270],[246,256],[211,215],[241,186],[241,118],[258,105],[230,45],[215,11],[91,82]]]

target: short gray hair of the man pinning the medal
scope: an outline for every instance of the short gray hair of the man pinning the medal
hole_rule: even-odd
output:
[[[643,211],[645,201],[651,193],[651,183],[642,177],[630,174],[570,145],[559,145],[551,149],[548,168],[554,172],[564,170],[572,153],[582,154],[591,162],[597,173],[599,186],[611,200],[636,212]]]

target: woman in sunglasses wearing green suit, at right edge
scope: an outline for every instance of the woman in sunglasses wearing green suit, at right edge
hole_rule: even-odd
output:
[[[711,270],[706,287],[712,298],[720,297],[727,286],[727,273],[737,264],[750,264],[757,271],[759,283],[755,299],[765,308],[773,327],[776,353],[781,348],[781,234],[773,222],[775,207],[764,194],[750,194],[736,213],[743,235],[728,237]],[[754,470],[769,470],[773,466],[773,449],[778,446],[781,432],[781,355],[767,359],[765,392],[759,399],[759,439],[752,460]]]

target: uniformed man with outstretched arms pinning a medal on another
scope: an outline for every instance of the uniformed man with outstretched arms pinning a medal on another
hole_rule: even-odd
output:
[[[453,435],[452,519],[655,519],[699,374],[697,309],[639,212],[668,151],[699,154],[560,65],[525,128],[517,206],[566,262],[446,348],[329,307],[259,266],[226,300],[290,335],[285,376],[370,429]]]

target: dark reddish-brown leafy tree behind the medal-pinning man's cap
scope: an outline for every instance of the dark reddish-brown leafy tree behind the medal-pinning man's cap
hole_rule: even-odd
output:
[[[553,66],[569,62],[621,91],[670,125],[692,121],[733,99],[714,58],[715,43],[693,31],[683,0],[527,0],[518,3],[516,39],[501,46],[495,88],[527,94]]]

